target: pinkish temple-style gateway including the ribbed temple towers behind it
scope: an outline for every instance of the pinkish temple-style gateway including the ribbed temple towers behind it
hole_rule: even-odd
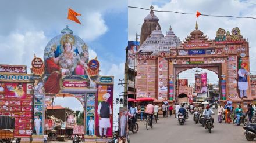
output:
[[[192,68],[208,69],[218,75],[219,101],[232,100],[234,104],[247,105],[256,99],[255,92],[251,93],[249,43],[238,27],[219,28],[215,39],[209,39],[196,22],[195,29],[188,32],[185,39],[179,39],[172,27],[166,35],[162,34],[159,19],[152,9],[141,27],[140,47],[136,53],[137,99],[152,97],[184,102],[185,94],[187,102],[193,101],[195,91],[190,87],[176,91],[177,75]],[[201,79],[200,84],[207,86]]]

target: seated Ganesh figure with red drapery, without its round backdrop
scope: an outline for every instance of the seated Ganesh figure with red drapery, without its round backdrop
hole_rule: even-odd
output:
[[[87,64],[81,60],[79,54],[73,49],[73,39],[66,36],[62,41],[63,52],[58,57],[48,58],[45,62],[49,74],[45,82],[45,93],[58,93],[59,82],[62,76],[84,75],[88,68]]]

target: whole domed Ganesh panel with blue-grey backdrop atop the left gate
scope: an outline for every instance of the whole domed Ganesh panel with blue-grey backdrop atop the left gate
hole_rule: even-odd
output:
[[[44,79],[45,93],[59,93],[61,80],[64,78],[87,77],[90,79],[90,84],[94,83],[90,78],[91,74],[88,74],[90,72],[88,46],[79,36],[73,35],[73,31],[68,26],[61,31],[61,35],[55,36],[47,43],[44,62],[45,77],[47,77]],[[93,68],[98,69],[99,63],[95,61],[93,63]]]

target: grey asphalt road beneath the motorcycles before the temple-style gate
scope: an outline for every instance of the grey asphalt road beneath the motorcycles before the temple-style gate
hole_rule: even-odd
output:
[[[136,134],[130,133],[130,142],[147,142],[147,143],[161,143],[161,142],[189,142],[189,143],[225,143],[225,142],[249,142],[244,137],[243,126],[235,126],[233,123],[225,124],[218,123],[218,113],[214,110],[215,127],[210,134],[208,130],[195,124],[193,115],[189,113],[189,119],[184,125],[180,125],[173,115],[171,118],[162,118],[159,115],[158,123],[153,123],[153,129],[147,130],[144,121],[139,121],[139,130]],[[256,141],[255,141],[256,142]]]

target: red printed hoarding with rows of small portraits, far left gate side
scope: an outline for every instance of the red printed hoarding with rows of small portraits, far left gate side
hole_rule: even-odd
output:
[[[33,131],[33,101],[26,83],[0,84],[0,115],[15,117],[15,135],[31,135]]]

